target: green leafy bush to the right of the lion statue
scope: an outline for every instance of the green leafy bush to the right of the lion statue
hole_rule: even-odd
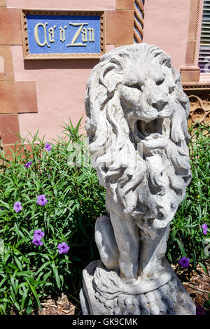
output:
[[[197,130],[192,128],[192,132],[189,151],[193,178],[170,226],[167,258],[170,262],[177,262],[186,256],[194,268],[199,263],[207,272],[204,260],[209,258],[205,245],[209,229],[207,235],[204,235],[201,226],[207,223],[210,228],[210,130],[200,125]]]

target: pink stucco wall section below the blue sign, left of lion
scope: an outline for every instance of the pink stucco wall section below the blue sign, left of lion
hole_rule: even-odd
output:
[[[107,45],[107,50],[113,47]],[[46,139],[61,135],[62,125],[71,121],[74,125],[84,115],[84,94],[90,71],[97,60],[47,60],[24,62],[22,46],[12,46],[15,80],[35,80],[38,113],[19,115],[20,134],[39,130]]]

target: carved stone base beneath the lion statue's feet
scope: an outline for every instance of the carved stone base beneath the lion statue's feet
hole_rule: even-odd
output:
[[[80,290],[83,315],[195,315],[193,300],[167,260],[164,262],[171,274],[169,281],[162,281],[163,285],[159,281],[159,288],[153,286],[154,290],[132,295],[125,290],[120,292],[119,286],[113,282],[118,276],[116,271],[106,269],[101,260],[91,262],[83,270],[83,288]],[[100,270],[106,271],[107,281],[104,278],[101,283],[97,281]],[[112,288],[109,277],[114,283]],[[121,281],[120,277],[118,281]],[[111,292],[108,292],[109,288]]]

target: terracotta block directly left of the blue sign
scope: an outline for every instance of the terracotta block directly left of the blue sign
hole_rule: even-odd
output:
[[[0,45],[22,45],[18,8],[0,8]]]

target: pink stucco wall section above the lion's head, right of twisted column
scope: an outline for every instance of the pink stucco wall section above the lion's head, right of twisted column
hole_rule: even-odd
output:
[[[185,64],[190,0],[146,0],[144,42],[158,45],[172,57],[172,65]]]

